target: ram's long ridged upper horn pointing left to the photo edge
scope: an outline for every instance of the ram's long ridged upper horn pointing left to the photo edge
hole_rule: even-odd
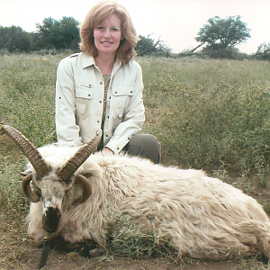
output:
[[[23,154],[28,158],[40,178],[49,174],[49,166],[43,157],[41,157],[39,150],[29,139],[26,139],[20,131],[15,130],[13,127],[0,123],[0,135],[4,133],[13,139],[14,143],[21,148]]]

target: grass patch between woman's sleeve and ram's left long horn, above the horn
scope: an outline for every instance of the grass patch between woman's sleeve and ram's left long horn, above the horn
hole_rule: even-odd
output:
[[[60,58],[61,56],[59,56]],[[55,140],[54,93],[57,57],[3,56],[0,119],[16,126],[36,146]]]

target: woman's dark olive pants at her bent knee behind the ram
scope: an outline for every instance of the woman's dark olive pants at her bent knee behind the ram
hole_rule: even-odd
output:
[[[158,164],[161,159],[161,146],[158,139],[151,134],[136,134],[123,148],[130,156],[139,156],[150,159]]]

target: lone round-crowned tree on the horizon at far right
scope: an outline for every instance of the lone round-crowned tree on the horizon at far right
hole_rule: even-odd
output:
[[[243,23],[241,17],[229,16],[227,19],[221,19],[219,16],[210,18],[198,32],[196,41],[201,44],[207,43],[204,51],[233,51],[235,45],[250,38],[247,23]]]

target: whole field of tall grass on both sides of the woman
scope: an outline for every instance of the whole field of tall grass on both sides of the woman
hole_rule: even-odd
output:
[[[56,141],[56,70],[65,56],[0,56],[0,121],[21,130],[37,147]],[[266,184],[269,62],[137,60],[145,84],[143,132],[161,141],[163,163],[202,169],[226,166],[238,175],[252,171],[258,181]],[[6,148],[7,141],[0,137],[0,196],[13,208],[11,202],[21,196],[16,180],[20,178],[14,174],[23,169],[26,160],[17,148]],[[9,182],[10,178],[14,180]],[[11,194],[11,190],[16,192]]]

